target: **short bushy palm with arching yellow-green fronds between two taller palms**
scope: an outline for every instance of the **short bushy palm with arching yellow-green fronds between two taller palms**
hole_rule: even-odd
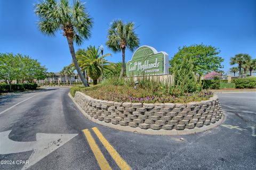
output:
[[[111,54],[105,54],[101,56],[101,51],[95,46],[89,46],[87,49],[78,49],[76,57],[79,66],[82,70],[86,70],[89,77],[93,80],[93,85],[97,84],[97,81],[104,70],[113,70],[113,63],[108,62],[105,57]],[[103,57],[103,68],[102,68],[102,58]]]

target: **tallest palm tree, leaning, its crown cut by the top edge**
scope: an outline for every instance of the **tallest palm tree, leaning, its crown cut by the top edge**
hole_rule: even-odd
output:
[[[63,31],[63,36],[68,40],[69,50],[75,64],[77,73],[84,86],[89,86],[82,75],[75,56],[74,41],[81,45],[84,39],[91,36],[92,18],[85,11],[85,5],[75,0],[73,5],[68,0],[45,0],[35,5],[35,13],[41,19],[38,27],[46,35],[55,36],[58,30]]]

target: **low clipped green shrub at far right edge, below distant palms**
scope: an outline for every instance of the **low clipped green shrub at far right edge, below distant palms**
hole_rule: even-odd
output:
[[[234,79],[233,82],[237,89],[256,88],[256,78],[239,78]]]

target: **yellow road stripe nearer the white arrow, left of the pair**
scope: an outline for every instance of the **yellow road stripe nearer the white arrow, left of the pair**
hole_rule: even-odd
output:
[[[108,164],[106,158],[103,156],[102,152],[100,151],[98,145],[96,144],[95,140],[93,139],[90,131],[88,129],[83,130],[84,135],[93,151],[95,158],[98,161],[98,164],[102,170],[109,170],[111,169],[110,165]]]

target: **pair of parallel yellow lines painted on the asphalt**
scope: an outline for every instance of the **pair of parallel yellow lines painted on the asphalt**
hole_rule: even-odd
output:
[[[131,169],[130,166],[124,161],[124,159],[118,154],[118,152],[109,144],[107,139],[103,137],[101,132],[98,130],[98,128],[92,128],[93,132],[97,135],[99,140],[101,141],[102,145],[107,149],[109,152],[109,155],[115,160],[116,164],[120,169]],[[102,170],[108,170],[111,169],[109,163],[107,162],[106,158],[100,151],[99,146],[93,139],[91,132],[88,129],[83,130],[84,135],[89,143],[89,146],[91,147],[93,154],[95,158],[97,159],[97,162]]]

